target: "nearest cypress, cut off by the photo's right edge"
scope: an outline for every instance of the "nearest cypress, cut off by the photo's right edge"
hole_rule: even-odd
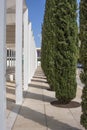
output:
[[[80,3],[80,39],[81,51],[80,58],[83,64],[83,72],[81,74],[84,83],[82,93],[82,115],[81,124],[87,129],[87,1],[81,0]]]

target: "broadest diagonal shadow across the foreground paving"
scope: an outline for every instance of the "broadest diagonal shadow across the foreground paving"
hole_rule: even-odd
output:
[[[19,107],[19,105],[16,105],[16,107]],[[15,110],[13,112],[16,113]],[[34,123],[36,122],[42,126],[48,127],[51,130],[81,130],[56,120],[53,116],[46,115],[46,113],[43,114],[26,106],[22,106],[18,114],[26,119],[34,121]]]

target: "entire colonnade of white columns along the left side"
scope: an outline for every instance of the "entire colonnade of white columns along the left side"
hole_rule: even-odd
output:
[[[28,89],[28,84],[37,67],[37,53],[32,25],[28,21],[28,9],[23,12],[23,0],[16,1],[15,13],[15,91],[16,104],[23,101],[23,90]],[[8,49],[9,50],[9,49]],[[0,1],[0,129],[6,130],[6,0]],[[9,59],[10,61],[11,59]],[[9,62],[9,65],[10,62]],[[22,73],[24,71],[24,84]]]

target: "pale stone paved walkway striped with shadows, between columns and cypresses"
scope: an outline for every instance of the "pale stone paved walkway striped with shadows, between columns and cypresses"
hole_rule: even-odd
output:
[[[14,103],[14,83],[7,87],[7,128],[8,130],[84,130],[80,125],[81,92],[78,86],[77,96],[68,107],[53,106],[55,92],[48,91],[49,85],[40,67],[38,67],[29,89],[24,93],[22,106]],[[10,98],[9,98],[10,97]]]

